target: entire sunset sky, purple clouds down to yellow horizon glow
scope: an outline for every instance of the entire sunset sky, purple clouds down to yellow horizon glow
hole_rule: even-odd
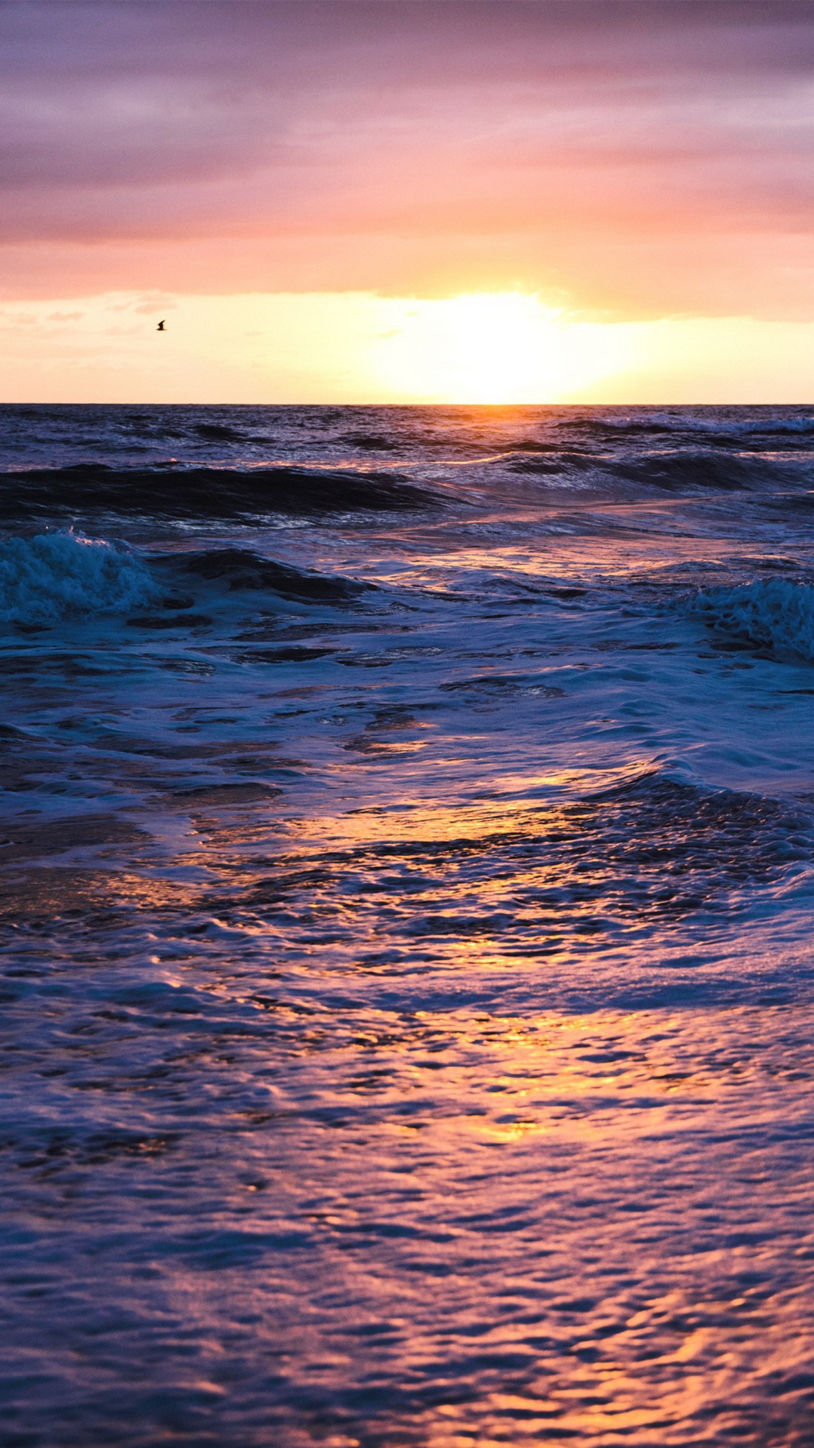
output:
[[[814,0],[10,0],[0,138],[6,401],[814,400]]]

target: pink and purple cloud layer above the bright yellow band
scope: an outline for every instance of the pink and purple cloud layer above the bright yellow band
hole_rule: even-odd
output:
[[[729,246],[736,310],[811,308],[813,22],[808,0],[4,7],[9,285],[173,288],[202,248],[204,290],[241,285],[243,253],[272,290],[405,291],[454,285],[457,256],[467,287],[645,313],[659,285],[667,310],[723,288],[732,311]]]

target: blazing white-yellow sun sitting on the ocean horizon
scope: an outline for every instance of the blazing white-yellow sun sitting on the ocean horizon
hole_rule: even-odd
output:
[[[380,385],[415,401],[551,403],[616,369],[586,332],[522,291],[405,301],[370,362]]]

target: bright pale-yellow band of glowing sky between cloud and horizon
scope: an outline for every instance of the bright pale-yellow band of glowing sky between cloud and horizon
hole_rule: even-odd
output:
[[[813,359],[813,321],[587,320],[522,291],[0,306],[6,403],[807,404]]]

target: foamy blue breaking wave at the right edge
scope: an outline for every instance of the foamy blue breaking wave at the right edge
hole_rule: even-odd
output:
[[[736,588],[711,588],[693,611],[716,631],[743,639],[775,654],[814,662],[814,588],[787,578],[768,578]]]

